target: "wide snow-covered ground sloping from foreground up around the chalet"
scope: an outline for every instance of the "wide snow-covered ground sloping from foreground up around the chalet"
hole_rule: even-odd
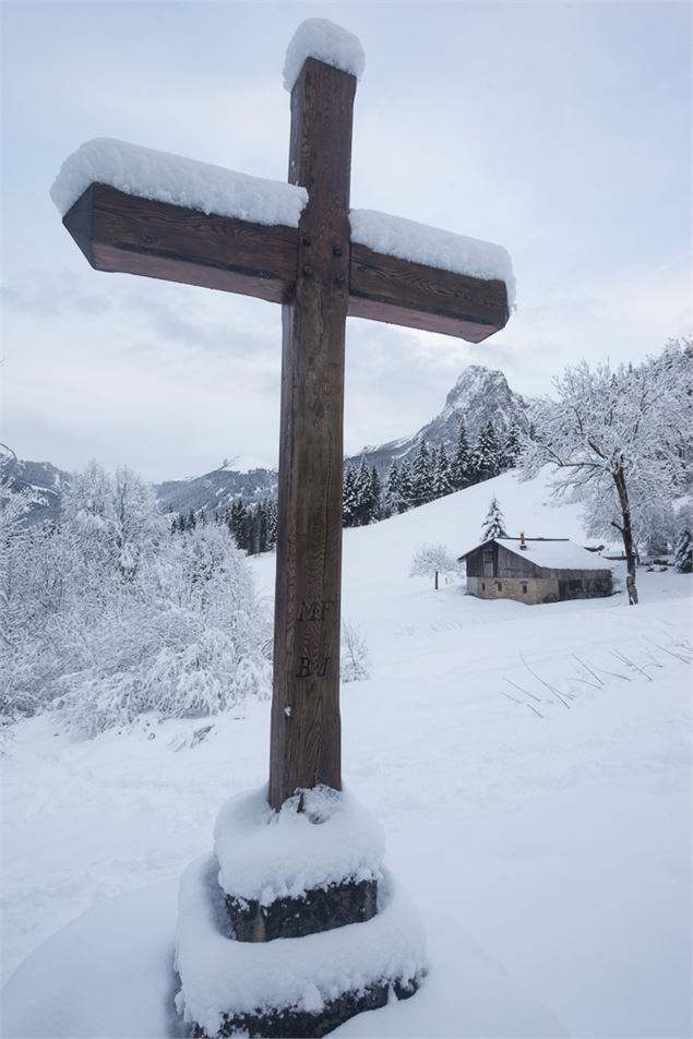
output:
[[[495,1020],[507,1035],[498,1006],[478,1028],[462,1019],[478,946],[572,1036],[689,1036],[691,580],[642,573],[633,609],[622,595],[485,602],[457,582],[435,593],[409,578],[422,542],[476,544],[492,493],[511,534],[584,542],[572,509],[511,476],[346,532],[345,613],[372,677],[343,690],[345,783],[385,826],[433,969],[428,998],[342,1031],[493,1035]],[[253,562],[267,597],[273,565]],[[206,852],[222,802],[265,779],[267,743],[268,704],[89,742],[46,717],[16,727],[3,979],[84,910]],[[427,1030],[421,1008],[434,1013],[441,987],[461,1016]]]

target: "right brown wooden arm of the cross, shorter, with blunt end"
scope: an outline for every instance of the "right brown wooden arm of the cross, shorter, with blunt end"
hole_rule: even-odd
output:
[[[507,323],[507,289],[351,246],[349,314],[480,343]]]

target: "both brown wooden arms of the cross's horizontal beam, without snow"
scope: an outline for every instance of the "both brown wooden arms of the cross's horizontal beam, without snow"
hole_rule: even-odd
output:
[[[63,224],[98,271],[201,285],[290,302],[295,227],[210,216],[93,183]],[[454,274],[351,243],[349,309],[355,318],[480,343],[504,327],[507,289],[498,279]]]

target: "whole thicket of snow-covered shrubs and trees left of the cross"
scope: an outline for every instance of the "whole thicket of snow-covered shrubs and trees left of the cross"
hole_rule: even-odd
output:
[[[94,736],[270,694],[270,619],[243,553],[219,525],[174,536],[127,469],[88,466],[60,524],[26,528],[10,558],[15,715],[51,704]]]

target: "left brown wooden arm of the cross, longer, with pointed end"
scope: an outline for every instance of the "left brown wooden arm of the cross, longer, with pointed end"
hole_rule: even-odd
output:
[[[295,227],[206,216],[94,183],[63,224],[98,271],[242,292],[271,302],[291,298]]]

